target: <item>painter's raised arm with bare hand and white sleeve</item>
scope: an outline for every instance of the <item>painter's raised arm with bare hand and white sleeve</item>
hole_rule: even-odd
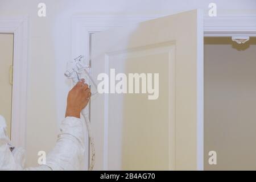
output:
[[[84,125],[81,110],[88,104],[91,93],[84,80],[68,93],[65,119],[60,125],[56,146],[46,157],[46,165],[28,170],[82,170],[84,169]]]

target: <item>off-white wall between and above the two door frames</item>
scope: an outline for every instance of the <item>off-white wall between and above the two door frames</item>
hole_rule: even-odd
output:
[[[37,16],[38,3],[47,5],[47,17]],[[55,144],[57,122],[64,118],[67,81],[65,63],[71,59],[71,17],[75,14],[174,14],[208,9],[212,0],[0,0],[0,16],[28,16],[27,164],[36,165],[37,152]],[[249,10],[254,0],[214,1],[218,10]],[[226,11],[225,11],[226,12]]]

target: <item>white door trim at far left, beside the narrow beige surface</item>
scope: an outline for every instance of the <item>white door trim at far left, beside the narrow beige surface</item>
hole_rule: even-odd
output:
[[[11,142],[26,147],[27,120],[27,18],[0,17],[0,34],[14,34],[13,100],[11,112]]]

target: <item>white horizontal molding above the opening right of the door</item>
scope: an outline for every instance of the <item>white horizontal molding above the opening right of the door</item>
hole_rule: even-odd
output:
[[[204,17],[204,36],[256,36],[256,15]]]

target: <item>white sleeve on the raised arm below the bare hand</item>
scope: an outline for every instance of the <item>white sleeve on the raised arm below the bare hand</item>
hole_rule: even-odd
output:
[[[65,118],[56,146],[46,156],[46,165],[26,170],[82,170],[85,167],[84,125],[82,119]]]

